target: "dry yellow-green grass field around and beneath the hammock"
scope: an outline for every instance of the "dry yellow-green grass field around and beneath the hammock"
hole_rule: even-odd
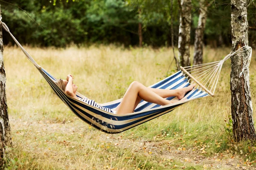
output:
[[[55,77],[65,79],[67,74],[72,74],[78,91],[99,103],[121,98],[133,81],[148,86],[175,72],[174,63],[168,71],[173,60],[171,48],[127,49],[109,45],[26,49]],[[220,60],[229,53],[230,48],[206,47],[204,62]],[[4,61],[13,142],[9,169],[233,170],[256,167],[256,144],[232,140],[230,61],[223,66],[215,97],[194,100],[115,135],[91,128],[76,117],[19,48],[6,47]],[[250,83],[254,111],[255,65],[253,51]]]

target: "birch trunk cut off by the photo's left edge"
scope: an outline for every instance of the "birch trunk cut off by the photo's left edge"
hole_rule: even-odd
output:
[[[1,17],[0,6],[0,17]],[[0,169],[3,168],[6,146],[11,144],[10,125],[6,101],[6,74],[3,65],[3,32],[0,23]]]

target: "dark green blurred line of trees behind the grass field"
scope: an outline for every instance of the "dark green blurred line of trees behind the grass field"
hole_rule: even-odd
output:
[[[171,19],[174,45],[178,42],[178,1],[173,1],[172,10],[170,0],[9,0],[1,3],[3,21],[22,44],[56,47],[71,43],[170,46]],[[200,6],[208,6],[204,44],[212,47],[231,45],[229,0],[215,3],[192,1],[191,44],[195,40]],[[253,13],[255,7],[250,5],[248,11]],[[253,45],[256,40],[256,14],[248,14],[248,22],[249,45]],[[6,44],[13,43],[7,34],[3,34],[3,39]]]

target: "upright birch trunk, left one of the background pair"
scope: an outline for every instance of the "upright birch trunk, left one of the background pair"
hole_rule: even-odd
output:
[[[178,0],[180,8],[179,26],[179,58],[183,67],[190,65],[190,28],[191,28],[191,0]]]

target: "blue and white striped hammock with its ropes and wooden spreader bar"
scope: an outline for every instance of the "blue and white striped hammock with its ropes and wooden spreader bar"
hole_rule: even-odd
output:
[[[0,21],[1,22],[1,21]],[[2,22],[1,22],[2,23]],[[157,105],[154,103],[141,101],[137,108],[135,108],[134,113],[128,114],[113,114],[107,111],[103,111],[99,108],[88,105],[78,99],[75,99],[67,95],[56,83],[57,80],[51,74],[49,74],[44,68],[39,66],[35,60],[26,52],[26,50],[20,45],[20,43],[15,39],[15,37],[9,31],[9,28],[5,23],[3,28],[11,35],[13,40],[21,48],[26,57],[31,61],[42,76],[49,83],[52,90],[55,94],[67,105],[70,110],[76,114],[81,120],[87,124],[95,127],[98,130],[101,130],[105,133],[120,133],[125,130],[128,130],[132,127],[140,125],[144,122],[147,122],[151,119],[154,119],[158,116],[161,116],[165,113],[173,111],[175,108],[183,105],[186,102],[189,102],[194,99],[214,96],[215,88],[218,82],[218,77],[221,71],[221,67],[227,59],[231,56],[238,54],[242,51],[249,51],[249,58],[244,63],[244,67],[240,73],[242,75],[243,71],[249,67],[251,59],[251,47],[243,46],[239,48],[234,53],[228,54],[224,59],[216,62],[210,62],[201,65],[194,65],[189,67],[181,67],[180,71],[167,77],[166,79],[161,80],[160,82],[155,83],[154,85],[149,86],[150,88],[160,88],[160,89],[178,89],[189,86],[189,84],[195,82],[197,86],[192,90],[186,93],[184,101],[177,101],[177,97],[166,98],[168,100],[176,101],[170,105]],[[85,96],[76,93],[77,97],[84,98]],[[102,105],[106,108],[116,108],[122,99],[115,100],[113,102],[108,102]]]

